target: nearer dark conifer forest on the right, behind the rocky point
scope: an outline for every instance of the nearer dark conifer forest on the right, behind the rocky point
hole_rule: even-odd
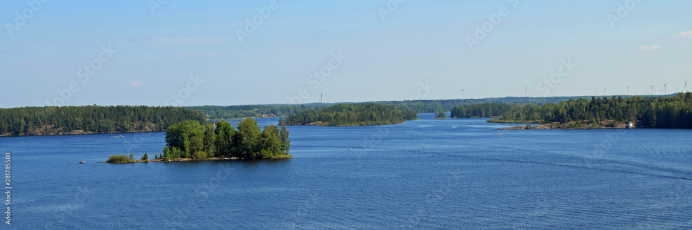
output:
[[[500,121],[636,122],[640,127],[692,128],[692,93],[675,97],[592,97],[544,105],[513,105]]]

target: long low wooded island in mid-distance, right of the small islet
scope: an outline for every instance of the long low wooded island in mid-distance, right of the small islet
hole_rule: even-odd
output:
[[[303,111],[290,115],[281,124],[303,125],[318,123],[320,126],[372,126],[399,124],[416,119],[416,112],[382,104],[338,104],[320,110]],[[321,123],[320,123],[321,122]]]

